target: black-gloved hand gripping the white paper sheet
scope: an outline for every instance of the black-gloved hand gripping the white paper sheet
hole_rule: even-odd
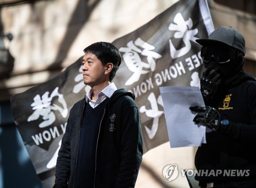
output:
[[[193,120],[195,123],[203,123],[214,131],[218,130],[221,122],[221,115],[215,108],[212,108],[211,106],[190,106],[189,109],[198,113]]]

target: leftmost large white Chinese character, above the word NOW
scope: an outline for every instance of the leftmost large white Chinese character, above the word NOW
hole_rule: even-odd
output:
[[[34,102],[31,104],[34,110],[33,114],[28,117],[28,122],[37,120],[40,116],[45,120],[39,124],[40,128],[47,127],[55,121],[55,115],[52,111],[59,111],[63,118],[68,116],[68,108],[63,95],[58,92],[58,87],[56,87],[51,96],[49,97],[49,91],[45,92],[45,94],[40,97],[40,95],[36,95],[34,97]],[[53,97],[58,96],[58,102],[62,104],[63,108],[58,106],[57,104],[51,105],[51,101]]]

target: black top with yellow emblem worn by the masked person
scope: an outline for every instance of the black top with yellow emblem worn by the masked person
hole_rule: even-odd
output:
[[[255,79],[241,72],[231,85],[222,88],[222,96],[215,108],[223,119],[229,120],[229,126],[221,133],[206,133],[207,144],[198,148],[195,165],[197,170],[208,170],[208,173],[211,170],[222,170],[222,173],[218,176],[196,176],[196,179],[202,183],[255,180]],[[244,176],[227,176],[224,170],[244,170]]]

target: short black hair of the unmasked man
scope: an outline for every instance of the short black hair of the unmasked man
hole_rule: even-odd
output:
[[[118,49],[109,42],[96,42],[84,48],[83,52],[93,53],[103,65],[107,63],[112,63],[114,65],[112,71],[110,72],[110,82],[112,82],[122,60]]]

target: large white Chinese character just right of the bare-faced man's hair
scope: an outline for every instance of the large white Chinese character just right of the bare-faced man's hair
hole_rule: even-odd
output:
[[[142,47],[143,50],[139,49],[136,45]],[[125,86],[129,86],[137,82],[141,74],[150,72],[149,70],[143,70],[143,68],[150,69],[151,71],[156,69],[156,62],[154,58],[159,59],[162,56],[157,52],[151,51],[153,49],[155,49],[153,45],[144,42],[140,38],[137,38],[134,43],[133,41],[128,42],[127,47],[119,48],[121,52],[124,52],[124,63],[129,70],[134,72],[134,74],[126,81]],[[147,57],[147,63],[141,61],[139,53]]]

